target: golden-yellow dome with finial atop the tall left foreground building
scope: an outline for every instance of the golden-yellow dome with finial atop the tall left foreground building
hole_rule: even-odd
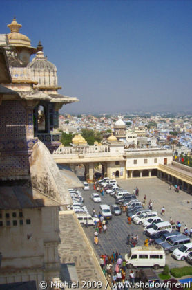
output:
[[[18,24],[15,17],[11,24],[8,24],[8,28],[10,28],[10,33],[8,33],[9,43],[15,46],[27,46],[31,47],[30,39],[21,33],[19,33],[19,29],[22,27],[21,24]]]

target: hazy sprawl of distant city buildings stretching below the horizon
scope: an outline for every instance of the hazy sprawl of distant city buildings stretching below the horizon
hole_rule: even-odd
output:
[[[81,129],[99,131],[102,136],[114,132],[118,116],[110,114],[60,114],[59,129],[66,133],[77,134]],[[173,154],[191,154],[192,115],[191,114],[129,114],[122,115],[126,125],[127,147],[164,147],[173,149]],[[133,136],[135,135],[136,138]]]

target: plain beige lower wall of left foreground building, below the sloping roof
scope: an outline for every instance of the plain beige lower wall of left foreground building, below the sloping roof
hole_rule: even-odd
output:
[[[1,215],[0,284],[35,280],[38,285],[41,280],[59,277],[59,208],[1,210]],[[6,221],[10,221],[10,226],[6,226]],[[13,226],[13,221],[17,225]]]

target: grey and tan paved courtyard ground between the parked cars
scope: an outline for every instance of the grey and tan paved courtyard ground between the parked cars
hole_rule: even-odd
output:
[[[118,181],[118,184],[129,192],[133,192],[133,189],[137,186],[140,190],[140,201],[143,201],[144,194],[146,194],[146,207],[148,206],[148,201],[151,199],[153,202],[153,210],[157,211],[159,216],[161,216],[161,208],[164,206],[166,208],[163,217],[165,221],[169,221],[169,218],[172,217],[173,221],[181,222],[182,228],[184,228],[185,224],[188,228],[192,226],[192,197],[186,192],[180,191],[180,193],[176,193],[173,188],[168,190],[168,184],[157,179],[157,177],[150,179],[122,180]],[[115,203],[115,199],[108,194],[104,194],[104,197],[102,197],[102,203],[94,203],[90,199],[90,194],[94,192],[92,185],[90,185],[90,190],[81,191],[83,192],[85,199],[84,203],[90,213],[93,212],[93,208],[95,208],[96,212],[99,213],[100,204],[111,205]],[[190,201],[190,203],[187,203],[187,201]],[[93,244],[94,228],[90,226],[84,228],[84,230],[88,239],[90,239],[90,242]],[[128,233],[137,233],[139,236],[138,245],[142,246],[144,244],[146,236],[143,235],[142,226],[135,224],[128,225],[125,214],[122,214],[121,216],[113,216],[113,219],[108,221],[106,234],[102,233],[99,235],[99,245],[95,246],[93,244],[98,257],[104,253],[111,255],[113,251],[118,251],[122,254],[122,257],[124,257],[128,251],[128,246],[126,246],[126,237]],[[170,267],[184,266],[187,264],[185,261],[174,260],[171,255],[166,255],[166,263],[169,264]]]

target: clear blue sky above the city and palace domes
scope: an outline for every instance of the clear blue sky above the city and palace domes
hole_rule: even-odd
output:
[[[64,113],[192,110],[192,1],[1,0],[57,66]]]

